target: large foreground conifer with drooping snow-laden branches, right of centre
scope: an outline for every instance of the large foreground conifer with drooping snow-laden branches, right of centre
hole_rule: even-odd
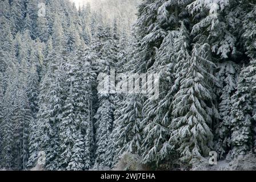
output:
[[[191,58],[182,67],[185,77],[181,80],[181,88],[174,96],[170,141],[182,162],[206,156],[213,142],[210,125],[215,106],[210,85],[213,75],[210,74],[214,64],[209,59],[209,45],[195,44]]]

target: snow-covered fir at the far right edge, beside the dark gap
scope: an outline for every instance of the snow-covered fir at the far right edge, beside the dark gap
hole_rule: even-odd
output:
[[[238,155],[245,155],[252,148],[252,126],[253,126],[253,97],[251,96],[251,84],[255,75],[254,61],[246,67],[244,66],[239,73],[237,92],[232,97],[233,107],[231,114],[231,147],[229,158]]]

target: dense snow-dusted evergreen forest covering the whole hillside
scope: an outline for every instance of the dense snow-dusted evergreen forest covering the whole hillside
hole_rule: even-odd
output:
[[[137,12],[132,23],[68,0],[0,0],[0,168],[33,168],[42,152],[46,170],[123,158],[191,169],[210,151],[256,152],[256,1],[143,0]],[[157,73],[157,99],[98,92],[111,69]]]

